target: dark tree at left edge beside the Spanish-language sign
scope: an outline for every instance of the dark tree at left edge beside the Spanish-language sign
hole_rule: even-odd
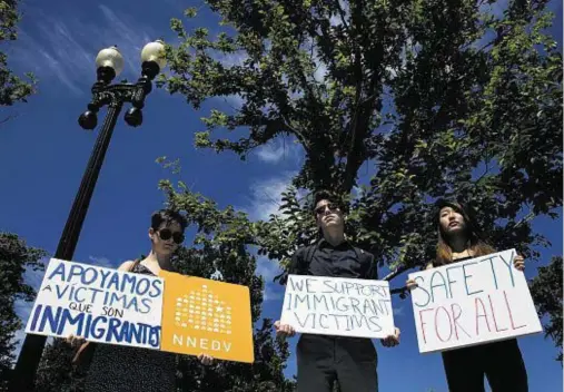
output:
[[[16,314],[16,302],[30,302],[34,291],[24,282],[26,271],[42,271],[44,251],[29,247],[11,233],[0,233],[0,391],[7,389],[17,342],[16,332],[23,325]]]

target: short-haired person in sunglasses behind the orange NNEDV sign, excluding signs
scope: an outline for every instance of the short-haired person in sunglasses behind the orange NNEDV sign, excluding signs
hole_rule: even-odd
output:
[[[126,262],[118,270],[158,276],[161,270],[171,271],[170,257],[184,242],[187,222],[172,210],[159,210],[151,217],[149,238],[151,251],[142,261]],[[77,339],[71,337],[76,344]],[[81,339],[78,339],[80,343]],[[87,362],[95,345],[83,343],[77,362]],[[198,356],[202,364],[211,364],[209,355]],[[175,391],[176,354],[158,350],[96,343],[86,379],[85,391]]]

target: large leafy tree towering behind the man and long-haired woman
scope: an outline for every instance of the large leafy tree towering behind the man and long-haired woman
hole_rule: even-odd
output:
[[[303,147],[280,216],[257,225],[270,258],[286,264],[315,235],[298,190],[359,186],[349,233],[387,278],[434,256],[433,202],[449,194],[473,202],[496,247],[535,259],[546,242],[531,222],[562,206],[562,55],[545,3],[208,0],[224,31],[172,19],[160,84],[195,109],[240,97],[202,118],[198,147],[241,159],[283,135]]]

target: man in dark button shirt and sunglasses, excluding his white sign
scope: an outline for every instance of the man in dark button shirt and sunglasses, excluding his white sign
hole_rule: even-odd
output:
[[[345,238],[344,204],[328,192],[318,192],[314,216],[323,236],[316,244],[298,248],[288,274],[377,280],[374,255]],[[286,275],[287,278],[287,275]],[[285,282],[283,282],[285,283]],[[293,325],[274,324],[276,333],[293,336]],[[384,346],[399,344],[399,330],[383,340]],[[377,355],[370,339],[301,334],[297,344],[297,391],[378,391]]]

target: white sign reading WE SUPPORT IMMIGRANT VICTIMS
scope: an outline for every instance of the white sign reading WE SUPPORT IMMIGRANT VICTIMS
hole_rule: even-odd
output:
[[[394,333],[386,281],[289,275],[280,317],[297,332],[383,339]]]

